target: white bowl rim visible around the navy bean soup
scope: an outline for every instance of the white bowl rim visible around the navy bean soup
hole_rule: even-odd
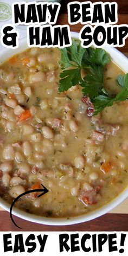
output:
[[[79,39],[79,34],[73,32],[72,37],[74,37],[75,39]],[[25,40],[22,40],[20,42],[20,47],[18,49],[5,48],[0,53],[0,59],[1,59],[0,63],[9,59],[9,57],[11,57],[12,55],[20,53],[27,48],[28,48],[27,41]],[[112,61],[116,63],[116,65],[118,65],[121,69],[123,69],[124,72],[128,72],[128,59],[122,53],[120,53],[117,49],[112,47],[104,47],[104,49],[106,50],[106,52],[110,54]],[[71,224],[81,223],[81,222],[95,219],[96,217],[99,217],[109,212],[114,207],[116,207],[119,203],[123,202],[123,200],[126,199],[127,195],[128,195],[128,188],[125,188],[125,190],[119,196],[117,196],[116,199],[112,200],[110,203],[101,207],[100,209],[97,209],[94,212],[88,213],[85,215],[70,217],[69,219],[67,219],[67,217],[52,218],[52,217],[37,216],[34,214],[25,213],[22,210],[19,210],[15,207],[12,210],[12,214],[18,217],[21,217],[24,220],[41,223],[45,225],[55,225],[55,226],[71,225]],[[10,211],[10,204],[5,202],[1,197],[0,197],[0,206],[3,207],[8,212]]]

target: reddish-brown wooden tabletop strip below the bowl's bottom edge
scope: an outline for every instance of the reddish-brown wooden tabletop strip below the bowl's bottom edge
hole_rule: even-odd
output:
[[[105,214],[95,220],[69,226],[47,226],[13,217],[22,229],[14,226],[9,213],[0,212],[0,231],[128,231],[127,214]]]

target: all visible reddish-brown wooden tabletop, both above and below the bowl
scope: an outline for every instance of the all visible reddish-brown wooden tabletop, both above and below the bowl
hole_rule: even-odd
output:
[[[67,4],[73,1],[61,2],[61,13],[57,20],[57,24],[68,24],[67,22]],[[86,2],[86,1],[79,1]],[[99,2],[98,0],[91,1]],[[107,2],[107,1],[102,1]],[[109,2],[113,2],[110,0]],[[114,1],[118,3],[118,24],[128,24],[128,0]],[[71,31],[80,31],[82,25],[76,24],[71,26]],[[128,52],[128,40],[122,52]],[[71,226],[46,226],[29,221],[24,221],[20,218],[14,217],[18,226],[22,227],[22,231],[128,231],[128,214],[105,214],[95,220],[80,223]],[[11,222],[9,213],[5,211],[0,212],[0,231],[21,231]]]

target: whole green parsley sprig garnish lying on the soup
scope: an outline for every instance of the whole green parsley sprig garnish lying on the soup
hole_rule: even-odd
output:
[[[83,87],[82,93],[88,95],[98,114],[105,107],[112,106],[114,101],[123,101],[128,97],[128,74],[117,78],[121,91],[110,97],[104,89],[104,67],[110,62],[110,56],[100,48],[82,48],[80,42],[73,40],[72,46],[60,49],[61,67],[59,92],[67,91],[75,85]],[[84,69],[86,75],[81,76]]]

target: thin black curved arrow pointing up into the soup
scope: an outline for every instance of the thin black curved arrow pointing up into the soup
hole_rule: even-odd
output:
[[[24,195],[27,195],[27,194],[29,194],[29,193],[33,193],[33,192],[43,192],[43,193],[41,193],[41,194],[40,194],[39,196],[37,196],[37,197],[43,196],[44,194],[48,193],[48,189],[47,189],[46,187],[44,187],[43,184],[41,184],[41,185],[42,185],[43,189],[40,188],[40,189],[33,189],[33,190],[26,191],[26,192],[22,193],[21,195],[17,196],[16,199],[12,202],[11,207],[10,207],[10,218],[11,218],[11,221],[14,223],[14,225],[15,225],[16,227],[21,228],[21,227],[19,227],[19,226],[15,223],[15,221],[14,221],[14,219],[13,219],[13,217],[12,217],[12,207],[14,206],[15,202],[16,202],[18,199],[20,199],[20,197],[22,197],[22,196],[24,196]],[[22,228],[21,228],[21,229],[22,229]]]

